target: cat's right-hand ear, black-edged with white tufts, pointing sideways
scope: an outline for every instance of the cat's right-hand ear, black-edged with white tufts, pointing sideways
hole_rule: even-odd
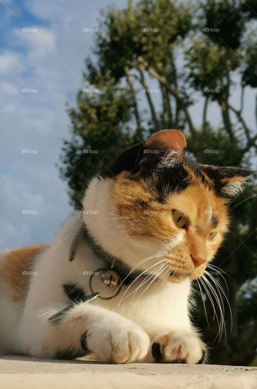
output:
[[[236,166],[208,166],[208,168],[208,175],[214,178],[215,188],[224,197],[234,197],[241,193],[248,176],[255,173],[253,170]]]

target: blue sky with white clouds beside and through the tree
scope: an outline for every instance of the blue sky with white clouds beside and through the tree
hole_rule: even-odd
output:
[[[108,5],[125,2],[0,2],[0,249],[50,242],[73,213],[56,166],[71,135],[66,103],[76,105],[84,60],[92,53],[94,32],[83,28],[97,28]],[[238,105],[238,91],[231,102]],[[247,90],[244,116],[251,126],[254,105],[254,91]],[[192,108],[196,124],[202,109],[199,97]],[[219,123],[216,107],[208,119]]]

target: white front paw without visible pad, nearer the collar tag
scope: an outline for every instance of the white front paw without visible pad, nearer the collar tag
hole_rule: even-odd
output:
[[[108,326],[87,331],[87,347],[99,359],[129,363],[146,356],[150,345],[148,335],[130,321],[113,321]]]

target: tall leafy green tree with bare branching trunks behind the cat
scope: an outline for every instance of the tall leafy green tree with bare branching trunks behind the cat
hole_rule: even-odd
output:
[[[86,61],[84,74],[87,89],[98,93],[78,92],[78,104],[70,112],[74,137],[65,142],[62,154],[61,174],[68,177],[74,194],[71,200],[77,208],[91,175],[109,166],[121,149],[160,128],[181,128],[191,158],[200,163],[253,163],[257,132],[243,117],[243,105],[245,88],[257,87],[257,34],[251,30],[257,18],[255,8],[251,0],[238,5],[233,0],[210,0],[198,8],[172,0],[139,0],[136,4],[128,1],[124,9],[109,9],[96,38],[97,59]],[[237,108],[231,104],[231,95],[239,89]],[[204,100],[203,117],[196,126],[190,109],[199,100]],[[147,108],[142,109],[145,102]],[[210,102],[221,112],[218,127],[207,119]],[[257,117],[257,110],[255,113]],[[194,316],[205,340],[212,343],[212,363],[245,365],[256,356],[255,193],[252,181],[244,195],[231,203],[231,233],[213,262],[227,275],[209,268],[211,284],[206,280],[201,290],[196,286]],[[230,336],[231,320],[220,289],[226,287],[222,277],[233,318]],[[217,314],[213,320],[212,305],[219,311],[214,290],[221,310],[224,305],[227,329],[227,336],[224,331],[218,336],[219,342],[221,318]],[[207,302],[208,297],[212,303]]]

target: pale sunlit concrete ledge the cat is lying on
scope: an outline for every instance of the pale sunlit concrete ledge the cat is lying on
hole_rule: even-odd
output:
[[[256,389],[257,368],[63,361],[0,355],[1,389]]]

